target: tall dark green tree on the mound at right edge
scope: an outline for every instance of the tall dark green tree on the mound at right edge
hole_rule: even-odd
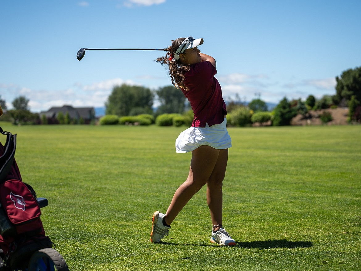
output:
[[[347,106],[353,95],[361,102],[361,67],[345,70],[336,77],[336,82],[336,95],[333,97],[336,104]]]

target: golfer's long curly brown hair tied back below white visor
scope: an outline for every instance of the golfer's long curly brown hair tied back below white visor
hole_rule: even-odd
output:
[[[181,63],[181,61],[175,60],[175,61],[171,61],[169,60],[169,57],[174,57],[175,52],[177,51],[177,49],[179,48],[179,46],[181,46],[183,40],[185,40],[186,38],[179,38],[176,40],[172,40],[172,45],[168,47],[168,53],[166,54],[166,56],[162,56],[162,57],[158,57],[157,58],[157,63],[160,63],[162,65],[167,64],[169,66],[169,75],[170,75],[170,79],[172,80],[172,84],[177,88],[177,89],[184,89],[186,91],[188,91],[188,87],[185,86],[183,84],[183,80],[184,80],[184,74],[186,74],[186,72],[188,72],[188,70],[191,68],[190,65],[184,65]],[[185,52],[183,52],[185,53]]]

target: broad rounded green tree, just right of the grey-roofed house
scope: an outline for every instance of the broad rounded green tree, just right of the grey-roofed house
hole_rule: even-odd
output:
[[[133,108],[143,108],[142,113],[153,113],[154,95],[148,88],[123,84],[114,86],[105,103],[107,115],[128,116]],[[136,114],[139,114],[139,109]]]

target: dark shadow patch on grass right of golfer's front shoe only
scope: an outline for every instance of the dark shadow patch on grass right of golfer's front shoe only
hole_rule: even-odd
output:
[[[282,240],[266,240],[253,242],[236,242],[239,248],[259,248],[259,249],[273,249],[273,248],[309,248],[312,242],[292,242],[285,239]]]

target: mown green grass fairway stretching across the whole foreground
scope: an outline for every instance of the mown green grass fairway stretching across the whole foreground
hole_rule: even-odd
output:
[[[223,225],[209,242],[205,188],[150,242],[188,175],[186,127],[12,126],[23,181],[49,206],[45,232],[72,271],[360,270],[361,126],[229,128]],[[1,137],[5,142],[5,137]]]

